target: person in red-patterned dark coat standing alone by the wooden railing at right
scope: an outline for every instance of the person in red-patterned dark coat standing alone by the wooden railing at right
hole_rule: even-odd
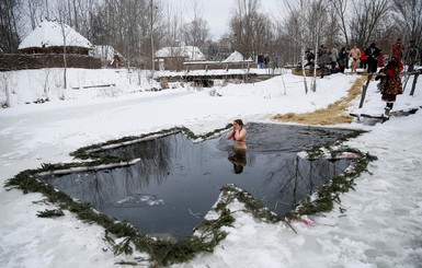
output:
[[[381,100],[387,103],[385,107],[385,116],[387,117],[390,115],[397,95],[403,94],[400,78],[402,70],[403,63],[392,56],[387,66],[380,70],[381,75],[376,78],[376,80],[381,79],[380,92],[383,94]]]

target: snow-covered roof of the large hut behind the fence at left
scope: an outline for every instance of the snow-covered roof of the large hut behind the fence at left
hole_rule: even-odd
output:
[[[82,35],[72,30],[69,25],[43,21],[31,32],[19,45],[18,49],[33,47],[62,47],[64,34],[66,36],[66,46],[91,48],[92,44]]]

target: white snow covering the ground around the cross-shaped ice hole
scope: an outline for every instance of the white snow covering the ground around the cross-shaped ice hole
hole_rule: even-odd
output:
[[[312,112],[345,96],[357,78],[318,78],[317,92],[305,94],[303,78],[287,72],[253,84],[174,85],[158,92],[149,91],[159,84],[150,83],[147,73],[75,69],[68,82],[78,89],[57,90],[60,75],[59,70],[0,73],[0,100],[11,105],[0,110],[1,184],[42,163],[71,162],[69,152],[110,139],[174,126],[205,133],[236,118],[273,123],[274,114]],[[104,84],[114,85],[83,89]],[[422,80],[414,96],[409,96],[410,85],[411,80],[394,110],[422,105]],[[46,97],[50,102],[32,103]],[[361,110],[358,102],[351,110],[383,112],[385,105],[376,83]],[[335,207],[294,222],[295,233],[284,223],[267,224],[237,212],[214,253],[174,267],[422,267],[421,121],[418,112],[375,126],[357,120],[335,126],[368,130],[347,144],[378,156],[370,173],[355,180],[355,190],[342,196],[344,213]],[[105,250],[104,230],[68,211],[56,219],[37,218],[37,211],[53,208],[42,199],[41,194],[0,188],[0,267],[118,267],[115,263],[136,257]]]

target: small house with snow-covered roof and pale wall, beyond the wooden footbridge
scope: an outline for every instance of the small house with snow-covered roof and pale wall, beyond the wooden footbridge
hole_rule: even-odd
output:
[[[183,62],[205,60],[205,56],[195,46],[163,47],[155,53],[155,60],[159,70],[180,71]]]

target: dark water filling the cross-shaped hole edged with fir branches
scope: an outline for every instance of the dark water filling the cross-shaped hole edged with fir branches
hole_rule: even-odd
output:
[[[350,130],[262,124],[246,128],[244,154],[232,150],[226,133],[199,143],[175,133],[104,152],[140,158],[135,165],[43,179],[99,211],[128,220],[142,233],[183,237],[192,234],[226,184],[284,214],[349,165],[303,160],[297,152]]]

